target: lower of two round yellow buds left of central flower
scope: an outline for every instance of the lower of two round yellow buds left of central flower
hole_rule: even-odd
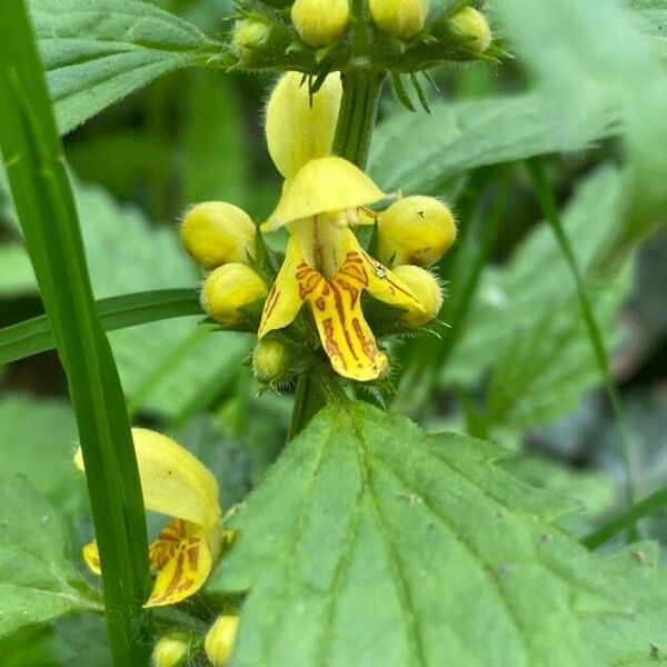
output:
[[[268,293],[265,281],[248,266],[228,263],[218,267],[201,288],[201,307],[216,321],[233,325],[243,318],[239,310]]]

